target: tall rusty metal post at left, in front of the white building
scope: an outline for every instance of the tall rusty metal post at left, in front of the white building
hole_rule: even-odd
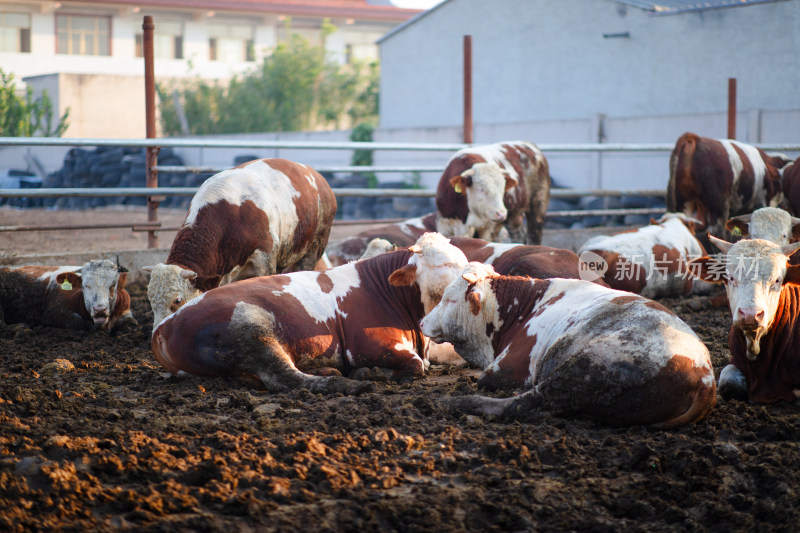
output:
[[[153,66],[153,17],[147,15],[144,17],[142,24],[143,30],[143,53],[144,53],[144,104],[145,104],[145,117],[147,121],[147,138],[155,139],[156,137],[156,79],[155,69]],[[158,147],[148,146],[146,148],[146,171],[147,171],[147,186],[151,188],[158,187],[158,172],[153,168],[158,165]],[[147,223],[158,223],[158,202],[159,198],[155,196],[147,197]],[[154,230],[147,232],[147,247],[158,248],[158,233]]]

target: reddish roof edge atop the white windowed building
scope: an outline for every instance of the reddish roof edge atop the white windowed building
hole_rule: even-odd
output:
[[[388,22],[403,22],[422,12],[419,9],[373,4],[367,0],[61,0],[62,7],[87,4],[356,18]]]

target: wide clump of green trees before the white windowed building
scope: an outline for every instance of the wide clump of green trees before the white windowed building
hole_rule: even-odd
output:
[[[330,32],[325,25],[323,32]],[[377,64],[339,65],[323,47],[291,34],[257,67],[227,87],[201,79],[159,84],[162,131],[252,133],[377,123]]]

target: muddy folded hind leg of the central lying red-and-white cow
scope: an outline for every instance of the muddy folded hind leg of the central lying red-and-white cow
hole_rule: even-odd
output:
[[[261,347],[248,354],[248,364],[252,367],[245,373],[252,373],[261,379],[271,392],[286,392],[305,388],[315,393],[360,394],[372,388],[369,383],[361,383],[341,376],[312,376],[300,372],[291,356],[281,344],[272,338],[261,339]]]

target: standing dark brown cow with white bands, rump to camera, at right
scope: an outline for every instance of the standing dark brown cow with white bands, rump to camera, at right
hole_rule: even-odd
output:
[[[667,211],[701,220],[704,234],[721,235],[731,216],[781,205],[780,169],[788,162],[742,142],[684,133],[670,155]]]

